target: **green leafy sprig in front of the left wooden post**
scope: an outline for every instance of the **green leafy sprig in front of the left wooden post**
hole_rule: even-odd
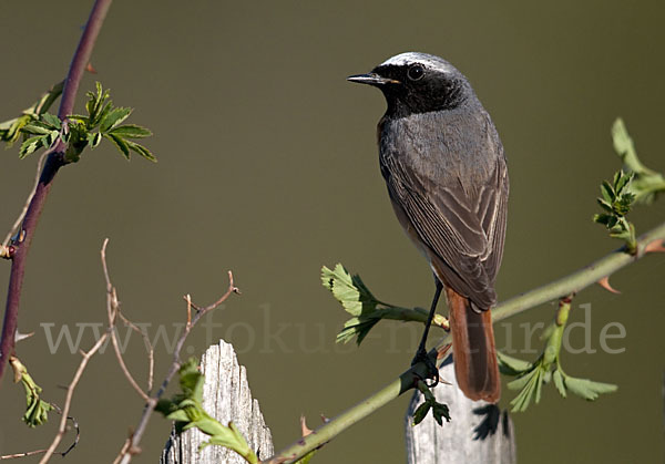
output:
[[[211,439],[201,444],[200,450],[209,445],[228,447],[245,458],[250,464],[257,464],[258,456],[249,447],[247,441],[233,422],[228,426],[222,425],[219,421],[211,416],[203,409],[204,375],[198,371],[198,361],[194,358],[178,370],[181,393],[172,399],[163,399],[157,402],[155,411],[161,412],[175,421],[176,431],[180,433],[187,429],[196,427]]]

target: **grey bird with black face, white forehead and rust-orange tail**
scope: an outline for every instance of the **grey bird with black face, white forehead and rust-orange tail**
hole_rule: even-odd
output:
[[[378,87],[387,110],[377,135],[379,165],[395,214],[429,261],[434,297],[412,364],[423,361],[442,292],[448,300],[456,379],[466,396],[495,403],[501,381],[491,308],[503,256],[507,157],[469,80],[440,56],[389,58],[348,81]]]

